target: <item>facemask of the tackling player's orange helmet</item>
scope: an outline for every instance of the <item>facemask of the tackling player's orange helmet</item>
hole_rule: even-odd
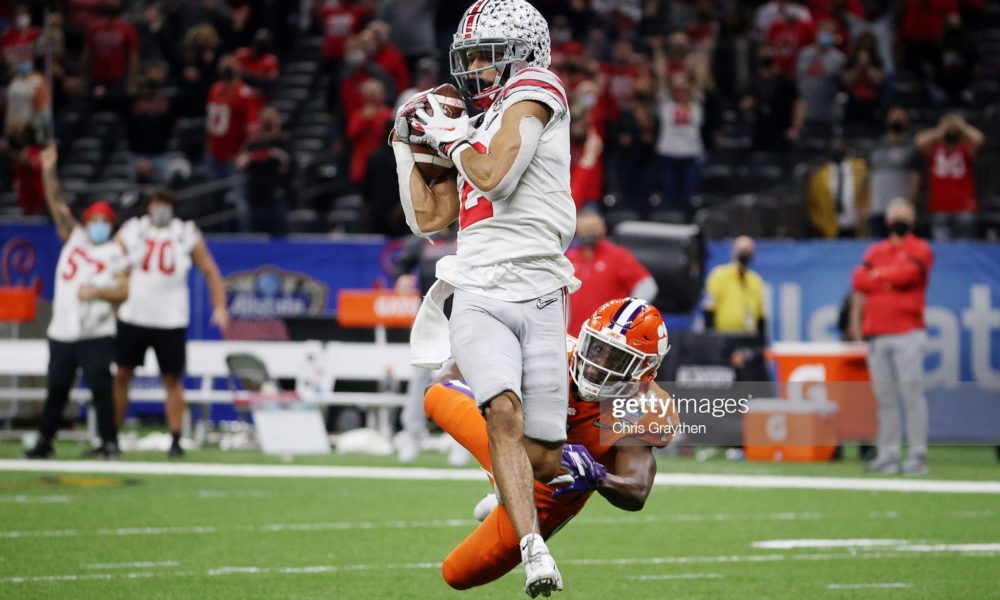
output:
[[[661,357],[584,326],[573,352],[571,376],[586,401],[630,398],[656,374]]]

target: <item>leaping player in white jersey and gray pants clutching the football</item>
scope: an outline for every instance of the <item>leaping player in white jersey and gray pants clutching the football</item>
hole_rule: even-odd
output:
[[[438,262],[414,324],[413,362],[436,365],[450,350],[466,375],[532,597],[562,589],[532,490],[533,479],[555,476],[566,439],[563,332],[567,294],[579,287],[564,255],[576,225],[570,117],[549,59],[548,25],[531,4],[477,0],[459,23],[451,70],[479,114],[449,118],[434,96],[418,94],[400,107],[393,143],[410,228],[427,235],[456,219],[460,227],[457,254]],[[457,175],[428,186],[408,143],[436,149]],[[444,329],[439,307],[452,291]]]

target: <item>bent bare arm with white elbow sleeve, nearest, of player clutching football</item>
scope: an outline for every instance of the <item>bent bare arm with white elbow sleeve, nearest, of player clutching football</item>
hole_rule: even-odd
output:
[[[517,102],[504,111],[500,131],[490,141],[486,154],[480,154],[468,142],[460,142],[451,151],[451,159],[459,173],[487,200],[503,200],[517,187],[551,118],[552,109],[541,102]]]

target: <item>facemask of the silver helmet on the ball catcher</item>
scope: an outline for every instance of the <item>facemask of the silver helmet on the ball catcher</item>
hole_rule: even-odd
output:
[[[456,36],[457,37],[457,36]],[[486,66],[473,68],[482,54]],[[530,59],[528,44],[522,40],[504,38],[456,39],[451,45],[451,76],[471,109],[486,110],[511,75],[524,68]],[[481,75],[496,69],[496,77],[487,83]]]

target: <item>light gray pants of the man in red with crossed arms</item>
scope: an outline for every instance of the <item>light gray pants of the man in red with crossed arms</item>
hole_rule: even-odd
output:
[[[872,338],[868,371],[878,401],[879,456],[899,456],[903,443],[900,408],[906,416],[910,456],[927,454],[927,397],[924,396],[923,329]]]

